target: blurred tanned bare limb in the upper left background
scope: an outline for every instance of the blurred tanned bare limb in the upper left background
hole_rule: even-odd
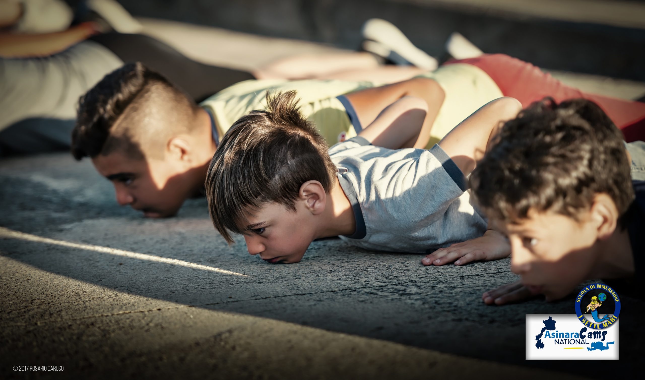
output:
[[[46,34],[0,34],[0,56],[6,58],[45,57],[62,52],[97,33],[94,23],[72,26],[63,32]]]

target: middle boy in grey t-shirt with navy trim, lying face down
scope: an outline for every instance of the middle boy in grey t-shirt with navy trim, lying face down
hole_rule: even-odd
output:
[[[295,95],[268,97],[268,110],[236,121],[213,155],[206,197],[228,243],[243,234],[250,254],[297,263],[321,237],[391,252],[482,239],[486,221],[470,204],[465,175],[500,121],[517,115],[517,100],[484,105],[430,150],[395,150],[420,138],[422,99],[399,99],[357,137],[328,148]],[[501,234],[486,234],[503,246]],[[508,255],[496,253],[480,259]]]

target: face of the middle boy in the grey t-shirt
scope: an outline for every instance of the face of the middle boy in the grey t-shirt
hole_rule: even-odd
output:
[[[303,259],[315,237],[315,221],[303,202],[295,202],[296,210],[279,203],[266,203],[261,210],[248,215],[244,240],[248,253],[260,255],[269,263],[292,264]]]

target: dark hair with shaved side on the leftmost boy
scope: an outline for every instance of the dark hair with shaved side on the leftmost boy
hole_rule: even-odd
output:
[[[174,119],[186,119],[194,114],[195,107],[192,99],[163,75],[143,63],[128,63],[105,75],[80,97],[72,130],[72,155],[80,160],[123,150],[132,157],[143,158],[135,140],[142,134],[151,135],[158,127],[145,123],[146,117],[164,113]],[[122,119],[128,121],[117,132],[115,125]],[[192,126],[192,123],[175,124]]]

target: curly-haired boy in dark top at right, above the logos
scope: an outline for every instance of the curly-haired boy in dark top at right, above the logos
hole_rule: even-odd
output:
[[[485,303],[560,299],[589,279],[641,288],[645,143],[626,145],[599,106],[546,100],[522,111],[493,139],[471,184],[522,276],[484,293]]]

